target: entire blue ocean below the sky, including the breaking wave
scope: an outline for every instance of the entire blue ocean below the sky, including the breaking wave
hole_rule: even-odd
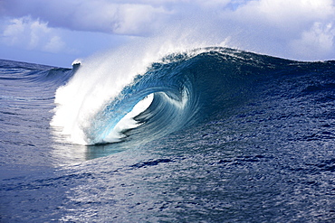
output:
[[[334,60],[120,60],[0,60],[1,222],[335,221]]]

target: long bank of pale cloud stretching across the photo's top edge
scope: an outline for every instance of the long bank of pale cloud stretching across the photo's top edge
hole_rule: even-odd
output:
[[[52,27],[129,35],[204,16],[208,23],[261,23],[294,33],[335,16],[333,0],[3,0],[2,5],[5,15],[30,15]]]

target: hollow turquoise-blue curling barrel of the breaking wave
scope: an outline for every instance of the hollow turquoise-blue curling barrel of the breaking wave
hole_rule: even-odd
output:
[[[138,144],[187,125],[196,113],[192,82],[178,68],[183,60],[172,63],[153,64],[105,103],[84,129],[87,144]]]

